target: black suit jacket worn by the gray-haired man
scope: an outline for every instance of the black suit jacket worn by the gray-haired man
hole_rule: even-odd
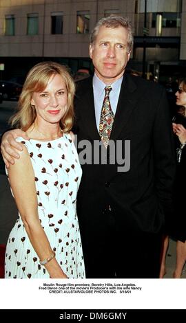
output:
[[[79,144],[87,140],[93,146],[100,137],[96,129],[92,78],[77,85],[75,113]],[[83,165],[81,160],[83,177],[77,200],[81,235],[91,242],[94,232],[103,230],[102,215],[108,205],[114,210],[116,230],[160,232],[165,215],[172,210],[176,167],[165,89],[125,74],[110,140],[122,140],[124,155],[124,142],[130,140],[130,170],[118,172],[117,162]],[[85,150],[79,147],[79,153]],[[86,157],[90,160],[91,153],[94,148],[87,149]],[[105,155],[109,159],[108,149]]]

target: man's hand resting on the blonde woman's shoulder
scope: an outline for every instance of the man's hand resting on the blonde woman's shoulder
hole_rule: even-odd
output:
[[[14,164],[14,159],[19,159],[19,151],[22,151],[22,144],[16,141],[17,137],[23,137],[25,140],[30,138],[26,133],[20,129],[10,130],[4,133],[1,142],[1,153],[3,156],[3,161],[6,164],[6,167],[9,167],[9,164]]]

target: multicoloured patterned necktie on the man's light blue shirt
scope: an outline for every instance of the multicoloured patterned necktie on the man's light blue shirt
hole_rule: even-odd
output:
[[[112,124],[114,122],[114,113],[111,109],[109,94],[112,87],[105,87],[105,98],[101,109],[101,118],[99,122],[99,135],[105,148],[107,148],[110,133],[112,131]]]

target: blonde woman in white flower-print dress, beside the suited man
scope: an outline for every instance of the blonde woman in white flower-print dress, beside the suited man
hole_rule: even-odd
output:
[[[74,82],[67,69],[32,67],[12,118],[30,140],[7,169],[19,209],[6,247],[6,278],[85,278],[76,193],[81,166],[72,141]]]

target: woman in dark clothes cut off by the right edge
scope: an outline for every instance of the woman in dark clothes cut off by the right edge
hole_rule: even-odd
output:
[[[181,78],[176,91],[178,113],[173,118],[173,131],[176,135],[177,172],[174,192],[175,217],[169,225],[169,235],[176,239],[176,269],[173,277],[180,278],[186,261],[186,214],[185,189],[186,183],[186,78]],[[161,261],[160,278],[165,275],[165,258],[168,248],[168,236],[165,237]]]

